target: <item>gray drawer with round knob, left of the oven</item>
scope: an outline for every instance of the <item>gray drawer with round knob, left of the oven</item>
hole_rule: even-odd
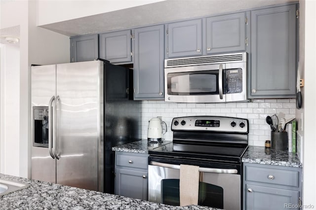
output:
[[[147,157],[139,157],[133,155],[117,155],[117,166],[126,166],[140,169],[147,169]]]

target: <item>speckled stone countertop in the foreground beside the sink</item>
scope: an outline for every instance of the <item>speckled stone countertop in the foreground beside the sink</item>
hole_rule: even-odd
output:
[[[0,197],[1,210],[218,210],[201,206],[168,206],[3,174],[0,179],[30,185]]]

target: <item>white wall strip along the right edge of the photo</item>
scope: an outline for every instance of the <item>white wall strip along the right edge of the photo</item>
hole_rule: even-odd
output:
[[[301,0],[300,7],[301,16],[305,16],[303,204],[316,207],[316,1]]]

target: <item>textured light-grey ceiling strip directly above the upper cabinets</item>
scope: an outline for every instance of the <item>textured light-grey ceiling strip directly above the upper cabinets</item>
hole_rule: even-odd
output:
[[[96,34],[293,1],[297,0],[166,0],[40,27],[67,36]]]

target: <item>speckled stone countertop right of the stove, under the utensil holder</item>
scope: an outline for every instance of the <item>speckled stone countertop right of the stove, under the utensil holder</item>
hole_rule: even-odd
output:
[[[303,167],[296,154],[288,151],[266,149],[261,146],[249,146],[242,156],[242,162],[298,168]]]

